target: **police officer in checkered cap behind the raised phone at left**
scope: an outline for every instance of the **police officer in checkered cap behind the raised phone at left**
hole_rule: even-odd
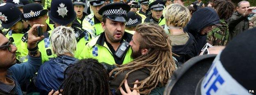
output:
[[[44,51],[43,49],[47,48],[48,45],[43,45],[43,42],[47,43],[47,40],[50,36],[50,30],[54,29],[54,25],[46,23],[46,20],[48,19],[48,16],[47,16],[48,10],[43,9],[43,7],[38,3],[27,4],[24,6],[23,10],[24,10],[24,14],[21,15],[21,19],[27,20],[30,26],[33,26],[34,24],[44,25],[41,28],[45,38],[44,40],[39,41],[38,46],[39,46],[39,51],[41,51],[42,53],[43,62],[47,61],[48,57],[46,55],[48,55],[50,58],[52,58],[53,55],[46,54],[46,51]],[[27,38],[27,33],[24,34],[21,40],[26,43],[27,41],[26,38]]]

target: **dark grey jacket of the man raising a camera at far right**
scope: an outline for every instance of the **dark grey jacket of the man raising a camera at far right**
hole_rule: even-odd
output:
[[[229,41],[249,28],[249,20],[235,11],[229,20]]]

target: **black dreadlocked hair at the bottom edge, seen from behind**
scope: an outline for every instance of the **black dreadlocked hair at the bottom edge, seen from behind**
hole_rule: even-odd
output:
[[[64,71],[62,95],[111,95],[109,77],[96,59],[83,59]]]

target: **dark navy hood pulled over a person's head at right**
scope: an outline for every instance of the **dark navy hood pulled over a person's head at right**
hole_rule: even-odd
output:
[[[184,28],[184,31],[191,33],[195,38],[197,38],[198,36],[201,36],[199,35],[201,29],[218,23],[219,16],[217,12],[210,7],[204,7],[193,13],[190,21]]]

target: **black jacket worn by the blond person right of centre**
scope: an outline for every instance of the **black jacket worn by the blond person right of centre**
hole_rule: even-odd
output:
[[[197,54],[197,41],[195,40],[192,34],[188,33],[190,38],[188,39],[185,45],[173,45],[172,52],[177,54],[178,56],[174,55],[174,57],[178,60],[178,63],[182,65],[187,60],[191,59],[192,57],[196,57]]]

